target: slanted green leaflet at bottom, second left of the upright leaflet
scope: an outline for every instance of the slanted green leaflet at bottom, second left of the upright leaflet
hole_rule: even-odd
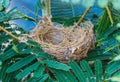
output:
[[[74,62],[74,61],[69,62],[69,65],[71,66],[71,68],[72,68],[75,76],[78,78],[78,80],[79,80],[80,82],[87,82],[83,71],[82,71],[81,68],[77,65],[76,62]]]

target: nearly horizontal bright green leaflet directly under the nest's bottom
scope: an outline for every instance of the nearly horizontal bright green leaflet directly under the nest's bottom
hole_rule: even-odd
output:
[[[54,60],[44,60],[44,63],[50,68],[64,70],[64,71],[70,70],[70,67],[67,66],[66,64],[63,64]]]

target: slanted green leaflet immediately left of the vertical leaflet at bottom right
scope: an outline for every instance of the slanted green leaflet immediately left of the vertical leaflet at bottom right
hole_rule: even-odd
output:
[[[89,81],[90,82],[95,82],[94,74],[93,74],[90,66],[88,65],[88,63],[85,60],[82,60],[80,62],[80,65],[81,65],[83,71],[85,72],[86,77],[89,79]]]

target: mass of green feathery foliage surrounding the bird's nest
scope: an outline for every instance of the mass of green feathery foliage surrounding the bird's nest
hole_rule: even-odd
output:
[[[91,0],[85,1],[88,1],[87,3],[91,2]],[[72,10],[67,11],[73,16],[73,18],[70,18],[71,21],[68,21],[69,19],[67,18],[64,18],[65,20],[62,18],[66,13],[64,13],[61,18],[54,15],[52,20],[66,25],[73,24],[79,19],[79,17],[76,17],[73,9],[76,2],[71,3],[71,5],[69,4],[69,8]],[[92,0],[91,4],[86,4],[86,7],[93,5],[93,3],[94,0]],[[98,5],[102,8],[107,4],[110,4],[109,7],[114,25],[111,25],[108,13],[105,10],[100,18],[97,19],[98,22],[94,28],[96,33],[95,49],[89,51],[88,57],[79,62],[70,61],[68,64],[63,64],[53,59],[48,53],[44,52],[37,42],[29,39],[26,43],[22,43],[14,40],[5,32],[0,31],[0,48],[3,47],[0,49],[0,61],[2,62],[0,65],[0,80],[2,80],[2,82],[21,82],[23,79],[26,82],[119,81],[120,12],[119,7],[115,9],[118,6],[118,3],[114,2],[114,0],[106,0],[105,3],[103,3],[103,0],[98,0]],[[9,24],[9,21],[23,18],[25,20],[37,22],[37,13],[39,9],[41,9],[42,4],[39,0],[37,4],[39,6],[36,6],[36,19],[24,15],[15,8],[6,12],[8,5],[9,0],[0,1],[0,26],[3,26],[14,35],[20,36],[26,32],[19,26],[13,28],[12,24]],[[21,33],[17,34],[16,30]],[[7,44],[9,40],[11,40],[9,45],[4,47],[3,44]]]

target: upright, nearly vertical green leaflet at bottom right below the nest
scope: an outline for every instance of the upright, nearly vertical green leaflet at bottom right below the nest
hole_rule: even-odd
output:
[[[95,75],[96,75],[96,82],[102,82],[103,74],[102,74],[102,63],[101,61],[97,60],[95,62]]]

